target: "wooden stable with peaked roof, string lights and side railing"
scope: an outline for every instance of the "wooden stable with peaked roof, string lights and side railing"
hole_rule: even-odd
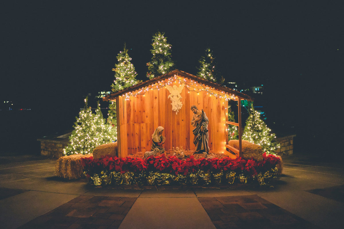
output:
[[[168,99],[170,92],[165,85],[178,87],[182,83],[185,85],[180,93],[183,106],[176,114],[172,111],[171,100]],[[228,121],[228,99],[238,101],[238,123]],[[192,105],[196,105],[198,110],[203,109],[209,119],[209,148],[218,153],[228,153],[226,149],[230,149],[241,156],[242,129],[239,128],[240,149],[237,150],[228,145],[227,127],[241,127],[240,100],[252,101],[248,95],[174,70],[103,97],[103,101],[109,100],[116,101],[119,157],[151,151],[152,134],[158,126],[164,127],[166,141],[163,147],[166,150],[172,149],[172,146],[194,150]]]

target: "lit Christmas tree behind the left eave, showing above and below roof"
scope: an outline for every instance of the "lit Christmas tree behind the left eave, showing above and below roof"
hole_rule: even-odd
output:
[[[130,62],[131,58],[128,55],[126,44],[124,44],[123,51],[120,51],[117,55],[117,60],[118,64],[115,65],[116,68],[112,68],[112,71],[115,71],[115,80],[111,85],[112,92],[120,91],[141,82],[136,79],[137,73],[135,71],[135,67]],[[116,102],[109,101],[108,115],[108,123],[117,129]]]

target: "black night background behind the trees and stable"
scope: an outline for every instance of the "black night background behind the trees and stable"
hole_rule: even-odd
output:
[[[110,90],[123,43],[137,78],[147,80],[158,30],[176,68],[196,74],[210,46],[226,82],[262,82],[267,123],[297,134],[295,152],[341,153],[340,4],[42,1],[6,3],[0,15],[0,103],[15,105],[0,111],[1,153],[39,153],[38,137],[72,129],[84,96]]]

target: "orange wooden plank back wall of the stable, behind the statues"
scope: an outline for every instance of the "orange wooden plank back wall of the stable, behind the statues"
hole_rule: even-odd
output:
[[[190,80],[187,82],[192,83]],[[156,83],[160,86],[159,84]],[[178,87],[180,82],[176,80],[170,85]],[[172,149],[172,146],[194,150],[194,127],[191,126],[193,113],[190,110],[192,105],[196,105],[199,110],[203,109],[209,119],[210,149],[215,152],[226,152],[225,99],[209,96],[207,91],[198,92],[203,88],[201,85],[194,83],[192,87],[184,86],[181,93],[183,106],[178,114],[172,111],[171,100],[168,99],[170,92],[165,87],[159,90],[149,89],[144,96],[130,96],[129,100],[119,96],[121,156],[150,151],[152,134],[158,126],[164,127],[166,150]]]

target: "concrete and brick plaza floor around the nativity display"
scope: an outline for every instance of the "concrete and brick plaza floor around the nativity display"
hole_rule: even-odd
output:
[[[0,157],[0,227],[342,228],[342,164],[318,159],[283,158],[265,187],[125,189],[58,179],[55,159]]]

